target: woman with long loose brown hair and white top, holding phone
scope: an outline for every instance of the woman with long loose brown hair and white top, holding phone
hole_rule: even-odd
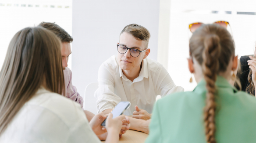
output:
[[[88,123],[62,93],[60,40],[42,27],[18,31],[0,71],[0,143],[100,143],[106,131],[106,142],[118,142],[124,116],[110,114],[103,129],[103,113]]]

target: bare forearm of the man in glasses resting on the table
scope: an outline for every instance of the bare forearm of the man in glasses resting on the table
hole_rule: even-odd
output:
[[[142,119],[135,119],[135,118],[130,117],[130,122],[131,122],[130,129],[149,134],[150,121],[151,121],[151,119],[145,121]]]

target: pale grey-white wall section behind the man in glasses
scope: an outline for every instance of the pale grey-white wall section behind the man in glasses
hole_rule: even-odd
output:
[[[100,65],[117,54],[120,32],[134,23],[149,30],[149,58],[157,60],[159,0],[73,0],[72,73],[80,94],[97,82]]]

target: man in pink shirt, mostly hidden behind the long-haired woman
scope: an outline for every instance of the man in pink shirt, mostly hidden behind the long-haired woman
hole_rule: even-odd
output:
[[[60,38],[61,41],[61,56],[62,56],[62,67],[63,67],[63,73],[64,73],[64,82],[65,82],[65,89],[66,89],[66,95],[65,97],[79,103],[81,107],[83,106],[83,98],[80,96],[80,94],[77,92],[77,89],[72,84],[72,71],[68,68],[68,58],[71,54],[71,46],[70,43],[73,41],[73,38],[66,32],[63,28],[61,28],[59,25],[55,23],[50,22],[41,22],[38,26],[43,27],[47,30],[52,31],[54,34],[56,34],[57,37]],[[87,110],[84,110],[85,115],[90,122],[93,116],[95,116],[92,112],[89,112]],[[128,119],[127,119],[128,121]],[[121,132],[119,136],[121,137],[122,134],[126,132],[127,129],[130,128],[130,121],[127,123],[124,123],[121,129]],[[106,140],[107,133],[101,134],[98,136],[100,140]]]

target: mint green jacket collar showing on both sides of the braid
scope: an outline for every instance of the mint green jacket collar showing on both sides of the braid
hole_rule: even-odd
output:
[[[196,88],[193,90],[195,91],[197,88],[205,88],[206,85],[206,81],[204,79],[201,80],[201,82],[199,82],[196,86]],[[222,76],[217,76],[217,80],[215,82],[215,85],[217,85],[217,87],[223,87],[223,88],[231,88],[234,90],[234,92],[238,92],[238,90],[233,87],[232,85],[229,84],[229,82],[227,81],[226,78],[222,77]]]

